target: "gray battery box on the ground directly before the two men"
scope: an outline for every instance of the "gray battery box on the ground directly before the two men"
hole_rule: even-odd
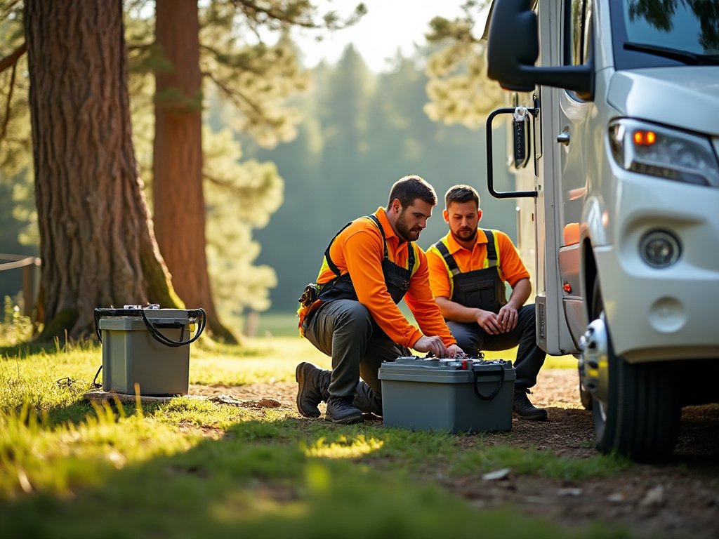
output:
[[[382,364],[379,378],[387,426],[449,433],[512,428],[511,361],[398,357]]]

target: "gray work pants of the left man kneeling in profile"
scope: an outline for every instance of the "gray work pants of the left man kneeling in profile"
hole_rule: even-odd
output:
[[[354,395],[354,405],[360,410],[382,415],[382,384],[377,373],[383,361],[408,356],[409,349],[393,343],[365,305],[355,300],[321,305],[304,328],[307,340],[332,358],[329,395]]]

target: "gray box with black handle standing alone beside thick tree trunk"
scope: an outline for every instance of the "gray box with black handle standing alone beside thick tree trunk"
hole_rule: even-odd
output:
[[[102,343],[103,391],[188,394],[189,344],[204,329],[204,310],[97,308],[95,322]]]

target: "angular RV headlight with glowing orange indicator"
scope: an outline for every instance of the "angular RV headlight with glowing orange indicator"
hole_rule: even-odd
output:
[[[625,170],[719,187],[719,162],[708,139],[631,119],[609,124],[609,144]]]

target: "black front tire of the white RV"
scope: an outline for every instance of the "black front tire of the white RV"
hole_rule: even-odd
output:
[[[599,283],[592,297],[592,318],[604,318]],[[679,434],[677,392],[672,387],[674,364],[630,364],[614,353],[609,324],[607,335],[608,397],[593,397],[592,412],[597,449],[636,461],[659,461],[674,451]]]

